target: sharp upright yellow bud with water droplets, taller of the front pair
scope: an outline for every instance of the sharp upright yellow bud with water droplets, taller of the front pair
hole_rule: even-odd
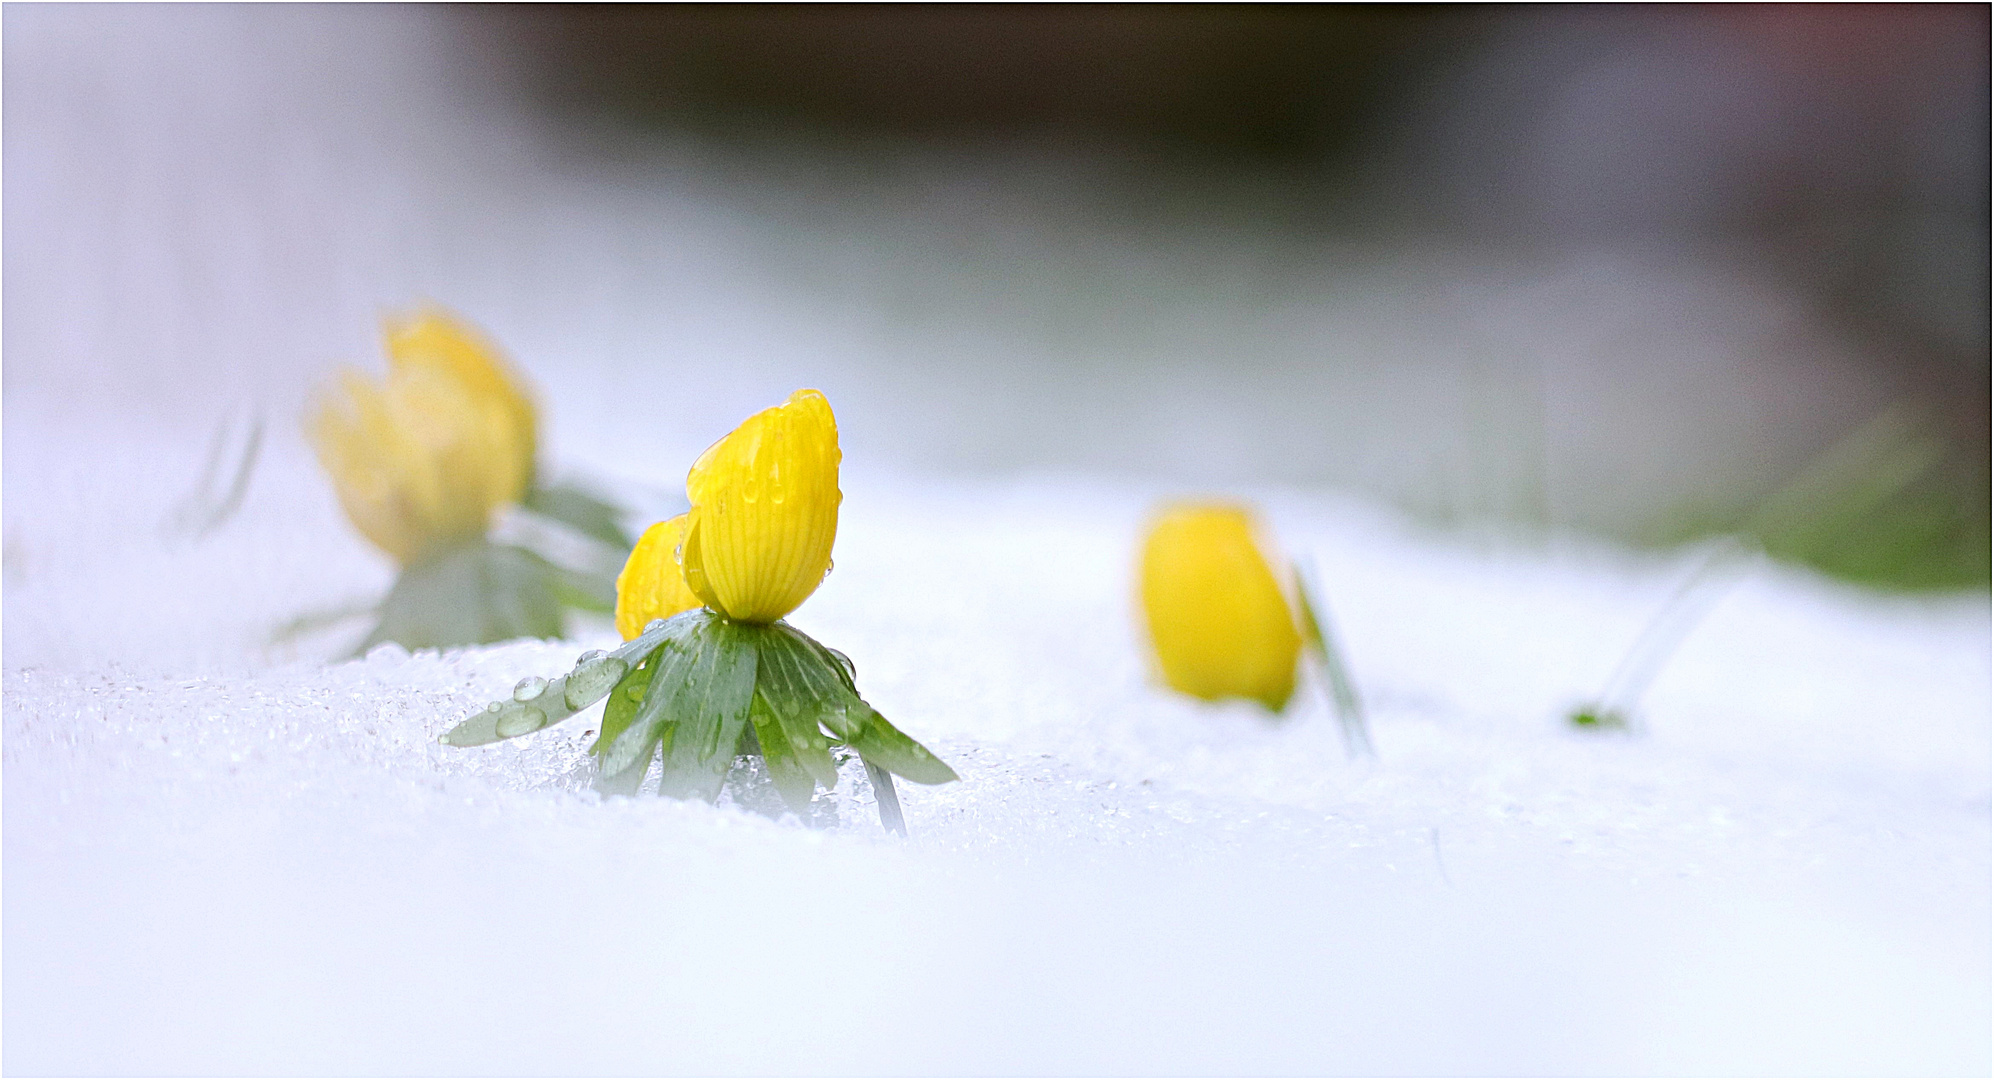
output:
[[[818,391],[796,391],[708,446],[686,476],[686,586],[736,622],[794,612],[831,570],[837,460],[837,418]]]

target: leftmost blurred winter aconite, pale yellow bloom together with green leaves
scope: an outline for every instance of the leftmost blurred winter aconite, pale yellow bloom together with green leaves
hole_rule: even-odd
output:
[[[359,650],[558,638],[568,610],[608,612],[622,510],[540,482],[526,383],[441,309],[381,329],[387,377],[347,371],[305,416],[347,518],[401,564]]]

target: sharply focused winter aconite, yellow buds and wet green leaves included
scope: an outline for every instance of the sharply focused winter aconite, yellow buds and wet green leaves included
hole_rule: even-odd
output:
[[[879,821],[905,833],[893,777],[949,783],[955,769],[859,697],[851,658],[784,622],[831,568],[837,464],[822,393],[748,416],[692,464],[692,510],[650,526],[624,562],[624,644],[582,654],[556,679],[520,679],[443,741],[514,739],[604,701],[592,747],[602,793],[640,791],[660,763],[660,795],[716,801],[724,785],[754,783],[736,763],[756,757],[760,783],[816,821],[816,791],[835,789],[837,763],[855,755]]]

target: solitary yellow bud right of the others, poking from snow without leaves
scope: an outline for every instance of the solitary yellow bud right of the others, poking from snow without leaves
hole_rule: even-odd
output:
[[[1242,506],[1166,508],[1143,544],[1143,612],[1172,689],[1280,711],[1294,693],[1302,634],[1254,534]]]

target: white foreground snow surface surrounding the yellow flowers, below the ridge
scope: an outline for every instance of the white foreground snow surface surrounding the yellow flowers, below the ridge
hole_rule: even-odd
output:
[[[389,570],[277,432],[8,399],[6,1070],[1990,1068],[1990,620],[1759,568],[1647,699],[1559,727],[1693,560],[1252,492],[1330,594],[1380,757],[1153,687],[1161,490],[845,470],[794,622],[963,775],[814,831],[600,799],[590,713],[437,733],[612,642],[263,644]],[[357,628],[347,628],[357,634]],[[853,777],[855,779],[855,777]]]

